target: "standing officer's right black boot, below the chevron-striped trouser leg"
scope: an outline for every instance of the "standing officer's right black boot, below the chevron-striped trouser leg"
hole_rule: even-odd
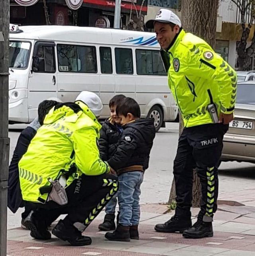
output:
[[[202,238],[213,235],[212,222],[204,222],[201,219],[198,219],[191,228],[188,228],[182,234],[185,238]]]

